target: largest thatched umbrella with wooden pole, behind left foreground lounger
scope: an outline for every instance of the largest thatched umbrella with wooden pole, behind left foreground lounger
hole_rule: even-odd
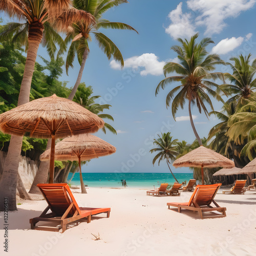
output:
[[[35,138],[51,138],[50,178],[53,183],[55,138],[80,133],[94,133],[104,126],[104,121],[72,100],[45,97],[17,106],[0,115],[3,133]]]

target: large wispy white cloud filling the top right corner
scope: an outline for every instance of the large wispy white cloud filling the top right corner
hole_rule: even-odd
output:
[[[224,20],[237,17],[242,11],[253,7],[256,0],[188,0],[187,7],[195,12],[196,26],[206,26],[205,34],[220,33],[225,24]],[[201,14],[201,15],[200,15]]]

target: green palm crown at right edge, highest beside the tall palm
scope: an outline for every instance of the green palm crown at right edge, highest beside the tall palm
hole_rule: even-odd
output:
[[[254,59],[250,65],[250,54],[243,56],[242,54],[237,57],[232,57],[230,60],[234,61],[234,65],[227,62],[233,71],[233,74],[224,73],[224,77],[229,79],[233,84],[223,84],[224,91],[229,91],[230,94],[234,94],[227,102],[230,103],[233,100],[238,102],[238,106],[241,106],[243,99],[248,99],[256,87],[256,78],[254,78],[256,72],[256,59]]]

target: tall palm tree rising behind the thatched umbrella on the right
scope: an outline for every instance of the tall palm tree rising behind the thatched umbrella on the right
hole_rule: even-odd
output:
[[[164,89],[168,83],[175,81],[181,82],[180,86],[175,87],[166,96],[166,108],[172,101],[172,114],[175,119],[175,114],[178,107],[183,109],[185,100],[188,100],[188,112],[190,123],[194,134],[202,145],[202,141],[196,131],[193,117],[191,114],[191,104],[197,105],[199,113],[202,109],[205,115],[208,117],[209,113],[206,109],[204,102],[208,102],[210,108],[214,110],[209,95],[215,97],[217,100],[222,100],[218,91],[214,91],[211,87],[219,89],[218,84],[209,81],[208,79],[222,78],[222,73],[210,73],[215,70],[217,64],[224,64],[220,56],[217,54],[207,55],[206,46],[214,43],[210,38],[204,38],[199,44],[196,44],[196,38],[198,34],[191,37],[190,41],[178,38],[181,46],[173,46],[170,49],[174,50],[178,54],[179,63],[168,62],[163,67],[163,72],[166,74],[176,72],[179,76],[169,76],[163,79],[156,88],[156,95],[160,88]],[[179,91],[179,92],[178,92]],[[177,93],[178,92],[178,93]],[[176,96],[174,97],[174,94]]]

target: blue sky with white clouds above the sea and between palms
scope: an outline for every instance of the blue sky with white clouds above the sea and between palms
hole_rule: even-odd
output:
[[[117,130],[97,132],[96,136],[116,146],[115,154],[93,159],[83,172],[166,172],[165,162],[155,164],[153,140],[161,132],[171,132],[173,138],[191,143],[195,135],[191,129],[187,104],[179,109],[176,122],[170,109],[166,109],[167,93],[178,85],[170,84],[155,96],[158,83],[164,79],[162,68],[167,61],[177,61],[177,55],[170,47],[178,45],[178,37],[190,38],[199,33],[198,42],[211,37],[215,44],[207,50],[218,53],[224,61],[240,54],[252,54],[256,57],[255,6],[256,0],[189,0],[189,1],[152,1],[130,0],[106,12],[103,18],[113,22],[122,22],[134,27],[134,31],[102,30],[110,37],[124,58],[124,68],[114,60],[108,60],[92,40],[82,82],[93,87],[93,95],[100,95],[99,103],[108,103],[112,107],[105,113],[114,117],[109,121]],[[6,19],[8,21],[10,19]],[[38,55],[45,57],[45,50],[39,49]],[[46,57],[45,57],[46,58]],[[40,59],[37,59],[40,62]],[[79,64],[69,70],[69,76],[63,73],[61,80],[69,81],[73,87]],[[216,71],[227,72],[226,67],[217,66]],[[225,98],[223,98],[225,100]],[[222,107],[215,100],[215,110]],[[210,108],[208,108],[210,111]],[[214,116],[209,120],[204,114],[192,109],[196,129],[200,137],[207,137],[212,126],[219,122]],[[172,168],[174,172],[189,172],[188,168]]]

